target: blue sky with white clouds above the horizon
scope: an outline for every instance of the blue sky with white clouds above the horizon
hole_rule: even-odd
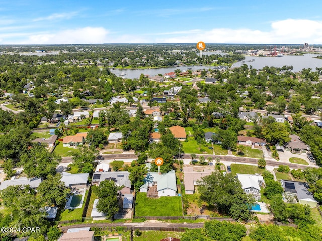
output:
[[[321,1],[0,0],[0,44],[322,44]]]

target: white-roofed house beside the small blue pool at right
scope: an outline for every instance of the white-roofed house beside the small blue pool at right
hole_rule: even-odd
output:
[[[256,201],[261,198],[261,187],[264,184],[264,179],[260,174],[240,174],[237,173],[237,178],[241,183],[241,188],[247,194],[252,194]]]

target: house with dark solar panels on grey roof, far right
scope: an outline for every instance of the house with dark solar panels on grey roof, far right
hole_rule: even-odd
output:
[[[281,179],[280,182],[284,189],[284,200],[287,200],[288,198],[295,198],[299,204],[309,205],[313,208],[317,206],[318,202],[308,190],[309,185],[307,183],[283,179]]]

